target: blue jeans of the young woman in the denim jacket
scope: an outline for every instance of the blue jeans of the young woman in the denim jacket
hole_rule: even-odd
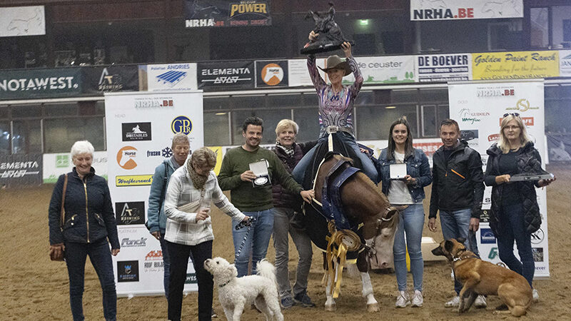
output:
[[[413,274],[414,289],[423,290],[423,240],[424,209],[423,203],[408,205],[400,213],[398,228],[395,233],[393,255],[395,258],[395,274],[399,291],[406,291],[406,250],[410,256],[410,272]],[[405,243],[406,232],[406,243]]]

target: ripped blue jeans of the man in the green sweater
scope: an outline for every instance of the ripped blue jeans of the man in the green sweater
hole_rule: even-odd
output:
[[[251,218],[256,218],[256,223],[236,230],[235,227],[240,221],[232,220],[232,238],[236,255],[234,264],[238,270],[238,277],[248,275],[250,255],[252,256],[252,274],[256,274],[258,262],[266,258],[273,232],[273,208],[243,213]]]

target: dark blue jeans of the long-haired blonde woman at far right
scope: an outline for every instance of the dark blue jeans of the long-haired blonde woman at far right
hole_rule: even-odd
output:
[[[525,230],[524,212],[521,203],[502,206],[502,225],[497,235],[497,253],[510,270],[525,277],[530,287],[535,273],[535,261],[531,249],[531,234]],[[513,254],[513,241],[517,244],[520,260]]]

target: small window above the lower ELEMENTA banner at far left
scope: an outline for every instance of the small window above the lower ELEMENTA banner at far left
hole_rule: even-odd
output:
[[[14,121],[12,148],[14,154],[42,153],[40,120]],[[70,146],[71,147],[71,146]]]

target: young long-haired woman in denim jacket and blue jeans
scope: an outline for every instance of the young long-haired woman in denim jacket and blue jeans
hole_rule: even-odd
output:
[[[377,163],[379,178],[383,182],[383,193],[392,205],[407,205],[401,211],[401,219],[395,234],[393,255],[399,295],[396,307],[410,305],[406,285],[406,249],[410,255],[410,272],[413,273],[415,294],[413,307],[423,305],[423,253],[420,243],[423,238],[424,187],[432,183],[430,165],[423,151],[413,148],[413,135],[405,118],[399,118],[390,126],[388,148],[380,151]],[[406,173],[403,180],[390,179],[390,165],[405,163]],[[405,242],[406,231],[406,242]]]

